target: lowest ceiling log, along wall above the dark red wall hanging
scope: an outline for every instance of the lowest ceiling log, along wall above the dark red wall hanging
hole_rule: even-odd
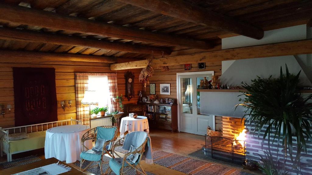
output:
[[[88,63],[116,63],[118,59],[105,56],[90,56],[78,54],[59,54],[45,52],[27,52],[0,50],[0,63],[31,63],[31,62],[88,62]],[[127,60],[127,59],[121,59]],[[128,59],[129,60],[129,59]]]

